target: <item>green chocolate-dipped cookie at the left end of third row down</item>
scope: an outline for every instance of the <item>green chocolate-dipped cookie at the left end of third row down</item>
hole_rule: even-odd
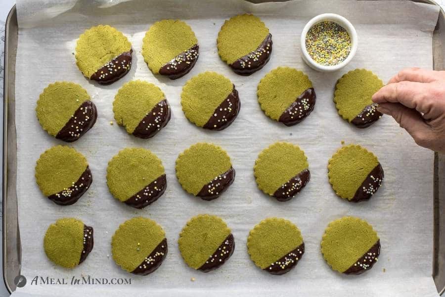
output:
[[[37,160],[36,181],[42,193],[54,203],[75,203],[92,183],[87,159],[74,148],[56,146]]]

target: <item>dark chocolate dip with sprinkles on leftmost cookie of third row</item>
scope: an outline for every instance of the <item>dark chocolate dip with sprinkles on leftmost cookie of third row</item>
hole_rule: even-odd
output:
[[[87,166],[84,173],[82,173],[79,179],[73,183],[71,187],[56,194],[49,195],[48,198],[59,205],[73,204],[87,192],[91,183],[92,175],[89,166]]]

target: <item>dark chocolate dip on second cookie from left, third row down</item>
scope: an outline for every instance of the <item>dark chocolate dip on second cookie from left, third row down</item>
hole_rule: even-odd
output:
[[[134,208],[142,209],[161,197],[166,188],[167,178],[165,174],[163,174],[128,200],[125,200],[124,203]]]

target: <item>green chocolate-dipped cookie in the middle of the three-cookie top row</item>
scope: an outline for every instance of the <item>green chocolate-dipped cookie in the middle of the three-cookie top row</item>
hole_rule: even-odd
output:
[[[199,56],[198,40],[185,22],[162,20],[145,33],[142,55],[153,74],[177,79],[195,65]]]

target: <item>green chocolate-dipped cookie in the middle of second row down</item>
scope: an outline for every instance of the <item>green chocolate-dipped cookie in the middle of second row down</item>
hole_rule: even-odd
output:
[[[241,107],[235,85],[223,75],[209,71],[192,77],[185,84],[181,105],[190,122],[210,130],[230,126]]]

